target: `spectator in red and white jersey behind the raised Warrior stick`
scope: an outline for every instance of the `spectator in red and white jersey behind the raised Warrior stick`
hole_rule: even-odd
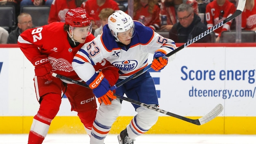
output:
[[[229,0],[213,0],[206,6],[207,28],[212,28],[217,23],[223,21],[227,17],[230,17],[235,11],[236,8],[234,4]],[[214,31],[217,35],[216,42],[219,42],[221,32],[230,30],[231,23],[232,21],[229,21]]]

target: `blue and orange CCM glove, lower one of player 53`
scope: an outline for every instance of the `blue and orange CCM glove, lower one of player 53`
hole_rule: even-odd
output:
[[[86,83],[93,89],[93,93],[98,98],[100,104],[102,102],[106,105],[111,104],[111,99],[117,98],[110,90],[111,86],[102,72],[99,74],[95,73]]]

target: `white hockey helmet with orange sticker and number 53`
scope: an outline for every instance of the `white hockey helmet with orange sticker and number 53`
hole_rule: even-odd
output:
[[[119,41],[117,33],[126,32],[131,28],[134,28],[134,22],[130,15],[119,10],[108,17],[108,28],[110,29],[111,34]],[[133,35],[134,34],[132,34],[132,36]]]

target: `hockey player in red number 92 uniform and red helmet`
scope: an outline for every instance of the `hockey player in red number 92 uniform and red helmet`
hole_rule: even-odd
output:
[[[62,92],[69,99],[71,110],[78,112],[87,133],[91,134],[97,112],[93,91],[54,78],[51,74],[55,72],[80,80],[72,68],[72,60],[83,44],[93,40],[93,38],[90,18],[86,11],[80,7],[70,9],[66,13],[65,23],[54,22],[39,28],[28,29],[19,36],[20,49],[35,66],[34,85],[40,104],[30,128],[28,144],[41,144],[43,142],[52,119],[59,111]],[[117,81],[118,69],[114,68],[108,61],[103,61],[101,64],[97,63],[94,68],[104,73],[110,85],[114,85]],[[87,72],[85,71],[85,73]]]

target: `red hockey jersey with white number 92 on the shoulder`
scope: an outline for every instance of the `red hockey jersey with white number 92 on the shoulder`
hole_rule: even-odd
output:
[[[54,22],[39,28],[28,29],[19,36],[18,44],[29,61],[39,55],[48,55],[52,64],[52,72],[79,80],[80,78],[72,68],[72,61],[74,55],[84,44],[72,48],[63,26],[62,22]],[[85,43],[93,38],[92,34],[87,36]]]

